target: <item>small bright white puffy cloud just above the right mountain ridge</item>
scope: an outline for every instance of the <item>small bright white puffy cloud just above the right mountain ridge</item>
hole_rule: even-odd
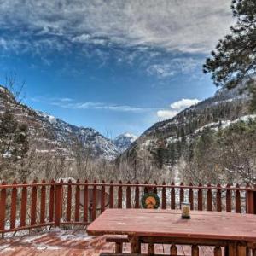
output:
[[[197,104],[198,102],[200,102],[200,100],[198,99],[182,99],[180,101],[173,102],[170,105],[171,109],[159,110],[157,111],[156,114],[160,119],[163,119],[163,120],[172,119],[177,115],[177,113],[181,112],[183,109],[189,108]]]

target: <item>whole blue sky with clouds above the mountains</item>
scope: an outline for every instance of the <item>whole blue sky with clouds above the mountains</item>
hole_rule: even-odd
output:
[[[15,72],[32,108],[139,135],[212,96],[201,65],[231,23],[227,0],[2,0],[0,84]]]

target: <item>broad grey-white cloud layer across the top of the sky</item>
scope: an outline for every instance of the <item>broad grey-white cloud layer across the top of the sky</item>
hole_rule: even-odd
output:
[[[0,15],[1,29],[21,37],[21,44],[45,44],[43,37],[65,47],[148,45],[190,53],[212,49],[231,23],[227,0],[3,0]],[[3,39],[15,39],[5,36],[4,47]]]

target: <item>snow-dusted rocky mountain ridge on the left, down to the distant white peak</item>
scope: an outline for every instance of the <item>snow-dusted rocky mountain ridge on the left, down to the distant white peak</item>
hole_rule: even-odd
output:
[[[74,151],[86,149],[90,157],[106,160],[115,159],[134,141],[128,134],[119,140],[110,140],[92,128],[78,127],[55,118],[48,113],[35,111],[15,101],[15,97],[0,86],[0,111],[8,108],[15,114],[15,119],[26,123],[30,131],[30,143],[38,154],[52,153],[73,157]],[[79,149],[80,147],[80,149]]]

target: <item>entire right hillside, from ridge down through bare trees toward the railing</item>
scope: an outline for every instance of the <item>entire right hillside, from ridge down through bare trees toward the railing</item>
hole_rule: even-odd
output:
[[[205,172],[203,170],[209,168],[208,181],[211,178],[217,181],[220,176],[217,178],[213,172],[217,166],[220,166],[220,158],[225,154],[223,149],[230,150],[232,147],[231,134],[233,137],[238,134],[241,136],[241,141],[237,141],[238,144],[234,146],[235,148],[239,148],[243,142],[247,142],[247,135],[241,135],[241,131],[246,131],[249,125],[246,128],[239,125],[247,123],[255,117],[249,113],[249,100],[247,86],[243,84],[233,90],[220,89],[214,96],[184,109],[174,118],[158,122],[148,128],[116,162],[119,164],[128,161],[133,168],[138,170],[148,168],[148,172],[152,169],[151,166],[154,166],[154,172],[165,172],[169,173],[169,177],[175,177],[177,180],[182,177],[184,181],[194,182],[196,180],[203,182],[203,178],[207,175],[200,174],[201,169],[202,172]],[[235,129],[237,131],[233,133]],[[229,142],[228,139],[230,139]],[[230,143],[227,147],[221,144],[225,140]],[[241,149],[239,148],[240,151]],[[212,150],[212,155],[210,150]],[[239,150],[237,149],[237,154],[241,154]],[[201,153],[200,157],[199,152]],[[209,167],[204,162],[207,160],[208,154]],[[250,154],[248,157],[253,156],[253,153]],[[213,158],[213,155],[215,159],[210,160],[210,156]],[[147,164],[145,164],[145,158],[148,160]],[[246,157],[243,156],[243,159]],[[201,166],[198,166],[198,161],[201,161]],[[252,161],[250,159],[248,161],[251,165]],[[229,172],[233,172],[233,169],[238,170],[243,164],[238,163],[236,167],[230,167],[224,166],[222,163],[222,166],[226,170],[231,170]],[[191,175],[195,177],[191,177]]]

